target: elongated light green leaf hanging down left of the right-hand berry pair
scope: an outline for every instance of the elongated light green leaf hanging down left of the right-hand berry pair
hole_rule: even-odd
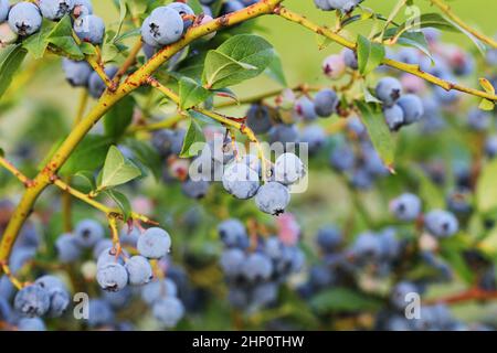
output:
[[[376,109],[372,104],[366,104],[363,101],[356,101],[357,107],[361,111],[362,122],[368,129],[369,137],[373,143],[383,163],[390,169],[393,169],[393,160],[395,156],[395,147],[393,143],[392,135],[384,122],[381,113]]]

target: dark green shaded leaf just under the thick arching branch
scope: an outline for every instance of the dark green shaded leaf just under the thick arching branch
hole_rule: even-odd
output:
[[[135,99],[127,96],[115,105],[104,117],[105,135],[113,140],[118,140],[133,121]]]

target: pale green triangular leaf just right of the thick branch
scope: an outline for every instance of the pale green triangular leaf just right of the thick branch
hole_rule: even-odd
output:
[[[102,171],[98,190],[105,190],[127,183],[141,175],[141,171],[127,160],[119,149],[110,146]]]

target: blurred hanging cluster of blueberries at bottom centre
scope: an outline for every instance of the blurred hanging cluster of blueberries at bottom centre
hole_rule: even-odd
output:
[[[273,303],[279,285],[304,267],[305,256],[296,244],[277,236],[250,237],[239,220],[222,222],[218,233],[224,245],[220,265],[228,299],[236,309],[253,312]]]

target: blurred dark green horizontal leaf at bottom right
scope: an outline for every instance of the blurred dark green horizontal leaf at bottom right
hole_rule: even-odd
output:
[[[347,288],[334,288],[319,292],[310,299],[318,313],[330,311],[367,311],[380,308],[382,302],[374,297]]]

